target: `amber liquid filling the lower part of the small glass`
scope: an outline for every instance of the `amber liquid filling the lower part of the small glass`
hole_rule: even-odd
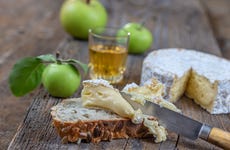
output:
[[[89,54],[91,78],[103,78],[111,83],[122,80],[128,54],[125,47],[101,44],[91,45]]]

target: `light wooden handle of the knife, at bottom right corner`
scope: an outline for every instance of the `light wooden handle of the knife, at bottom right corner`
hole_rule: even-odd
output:
[[[208,136],[208,142],[225,150],[230,150],[230,133],[214,127]]]

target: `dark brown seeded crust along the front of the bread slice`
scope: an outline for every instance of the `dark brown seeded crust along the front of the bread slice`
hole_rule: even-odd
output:
[[[63,103],[63,102],[62,102]],[[134,124],[128,118],[116,118],[107,120],[77,120],[62,121],[57,117],[56,107],[51,111],[53,125],[56,128],[63,143],[86,142],[98,143],[100,141],[111,141],[119,138],[144,138],[153,137],[143,122]],[[156,120],[149,117],[149,120]]]

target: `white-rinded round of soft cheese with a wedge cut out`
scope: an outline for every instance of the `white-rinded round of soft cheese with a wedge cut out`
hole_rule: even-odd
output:
[[[212,114],[230,112],[230,62],[186,49],[161,49],[143,61],[141,85],[153,78],[164,84],[164,98],[175,102],[184,93]]]

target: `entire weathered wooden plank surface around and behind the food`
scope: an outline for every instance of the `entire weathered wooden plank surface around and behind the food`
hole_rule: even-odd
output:
[[[114,140],[111,143],[61,145],[50,126],[49,109],[60,99],[50,97],[42,87],[31,94],[16,98],[8,88],[7,79],[13,64],[25,56],[55,53],[87,62],[87,41],[67,35],[60,26],[58,13],[62,0],[0,1],[0,149],[172,149],[178,136],[162,144],[150,140]],[[155,42],[151,49],[183,47],[206,51],[230,59],[230,1],[228,0],[143,0],[102,1],[109,13],[109,25],[124,25],[147,18]],[[130,55],[125,81],[139,82],[144,55]],[[132,64],[135,62],[135,65]],[[132,65],[131,65],[132,64]],[[86,77],[87,78],[87,77]],[[78,96],[79,92],[75,94]],[[186,115],[230,131],[229,115],[208,115],[186,98],[177,103]],[[191,107],[190,107],[191,106]],[[28,113],[27,113],[28,112]],[[23,120],[23,118],[25,118]],[[20,125],[20,126],[19,126]],[[19,127],[19,128],[18,128]],[[17,130],[18,129],[18,130]],[[26,132],[28,131],[29,132]],[[47,132],[49,131],[49,132]],[[39,143],[38,143],[39,142]],[[111,147],[112,146],[112,147]],[[154,146],[154,148],[153,148]],[[180,137],[178,149],[218,149],[204,141]]]

